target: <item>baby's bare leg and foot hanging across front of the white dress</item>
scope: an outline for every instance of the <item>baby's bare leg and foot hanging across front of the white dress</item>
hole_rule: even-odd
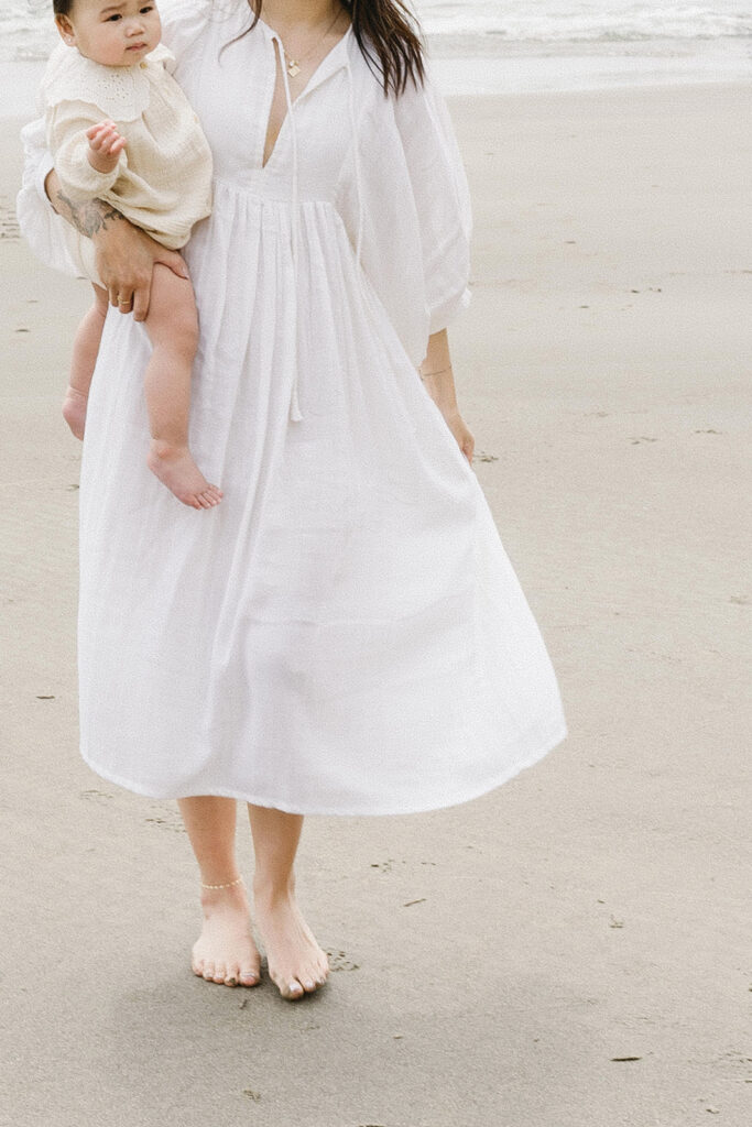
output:
[[[188,450],[191,371],[198,345],[193,286],[159,263],[145,326],[153,347],[144,382],[151,431],[149,469],[184,505],[212,508],[222,491],[206,481]]]

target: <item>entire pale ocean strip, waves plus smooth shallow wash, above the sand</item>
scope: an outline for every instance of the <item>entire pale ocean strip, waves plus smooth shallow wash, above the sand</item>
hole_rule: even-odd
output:
[[[165,8],[180,0],[160,2]],[[448,95],[752,78],[752,0],[413,0],[410,6]],[[0,117],[33,114],[41,61],[55,42],[52,0],[1,0]]]

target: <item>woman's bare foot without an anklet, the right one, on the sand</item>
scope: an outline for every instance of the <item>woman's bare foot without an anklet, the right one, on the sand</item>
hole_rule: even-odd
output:
[[[294,894],[268,894],[257,889],[255,912],[269,978],[282,996],[295,1001],[324,986],[329,975],[329,960],[303,920]]]

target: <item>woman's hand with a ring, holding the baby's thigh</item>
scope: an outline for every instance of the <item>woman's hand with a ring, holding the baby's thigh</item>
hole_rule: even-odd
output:
[[[143,321],[149,312],[156,263],[168,266],[178,277],[188,277],[177,250],[167,250],[125,219],[103,228],[92,238],[97,273],[109,294],[109,304],[121,313],[133,311],[135,321]]]

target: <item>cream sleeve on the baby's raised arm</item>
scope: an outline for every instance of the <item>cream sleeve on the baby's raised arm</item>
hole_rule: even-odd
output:
[[[82,101],[63,101],[51,112],[48,134],[55,171],[65,195],[77,203],[96,199],[109,192],[127,168],[125,150],[121,152],[112,172],[98,172],[89,163],[89,140],[86,132],[101,119],[103,115],[96,106]]]

